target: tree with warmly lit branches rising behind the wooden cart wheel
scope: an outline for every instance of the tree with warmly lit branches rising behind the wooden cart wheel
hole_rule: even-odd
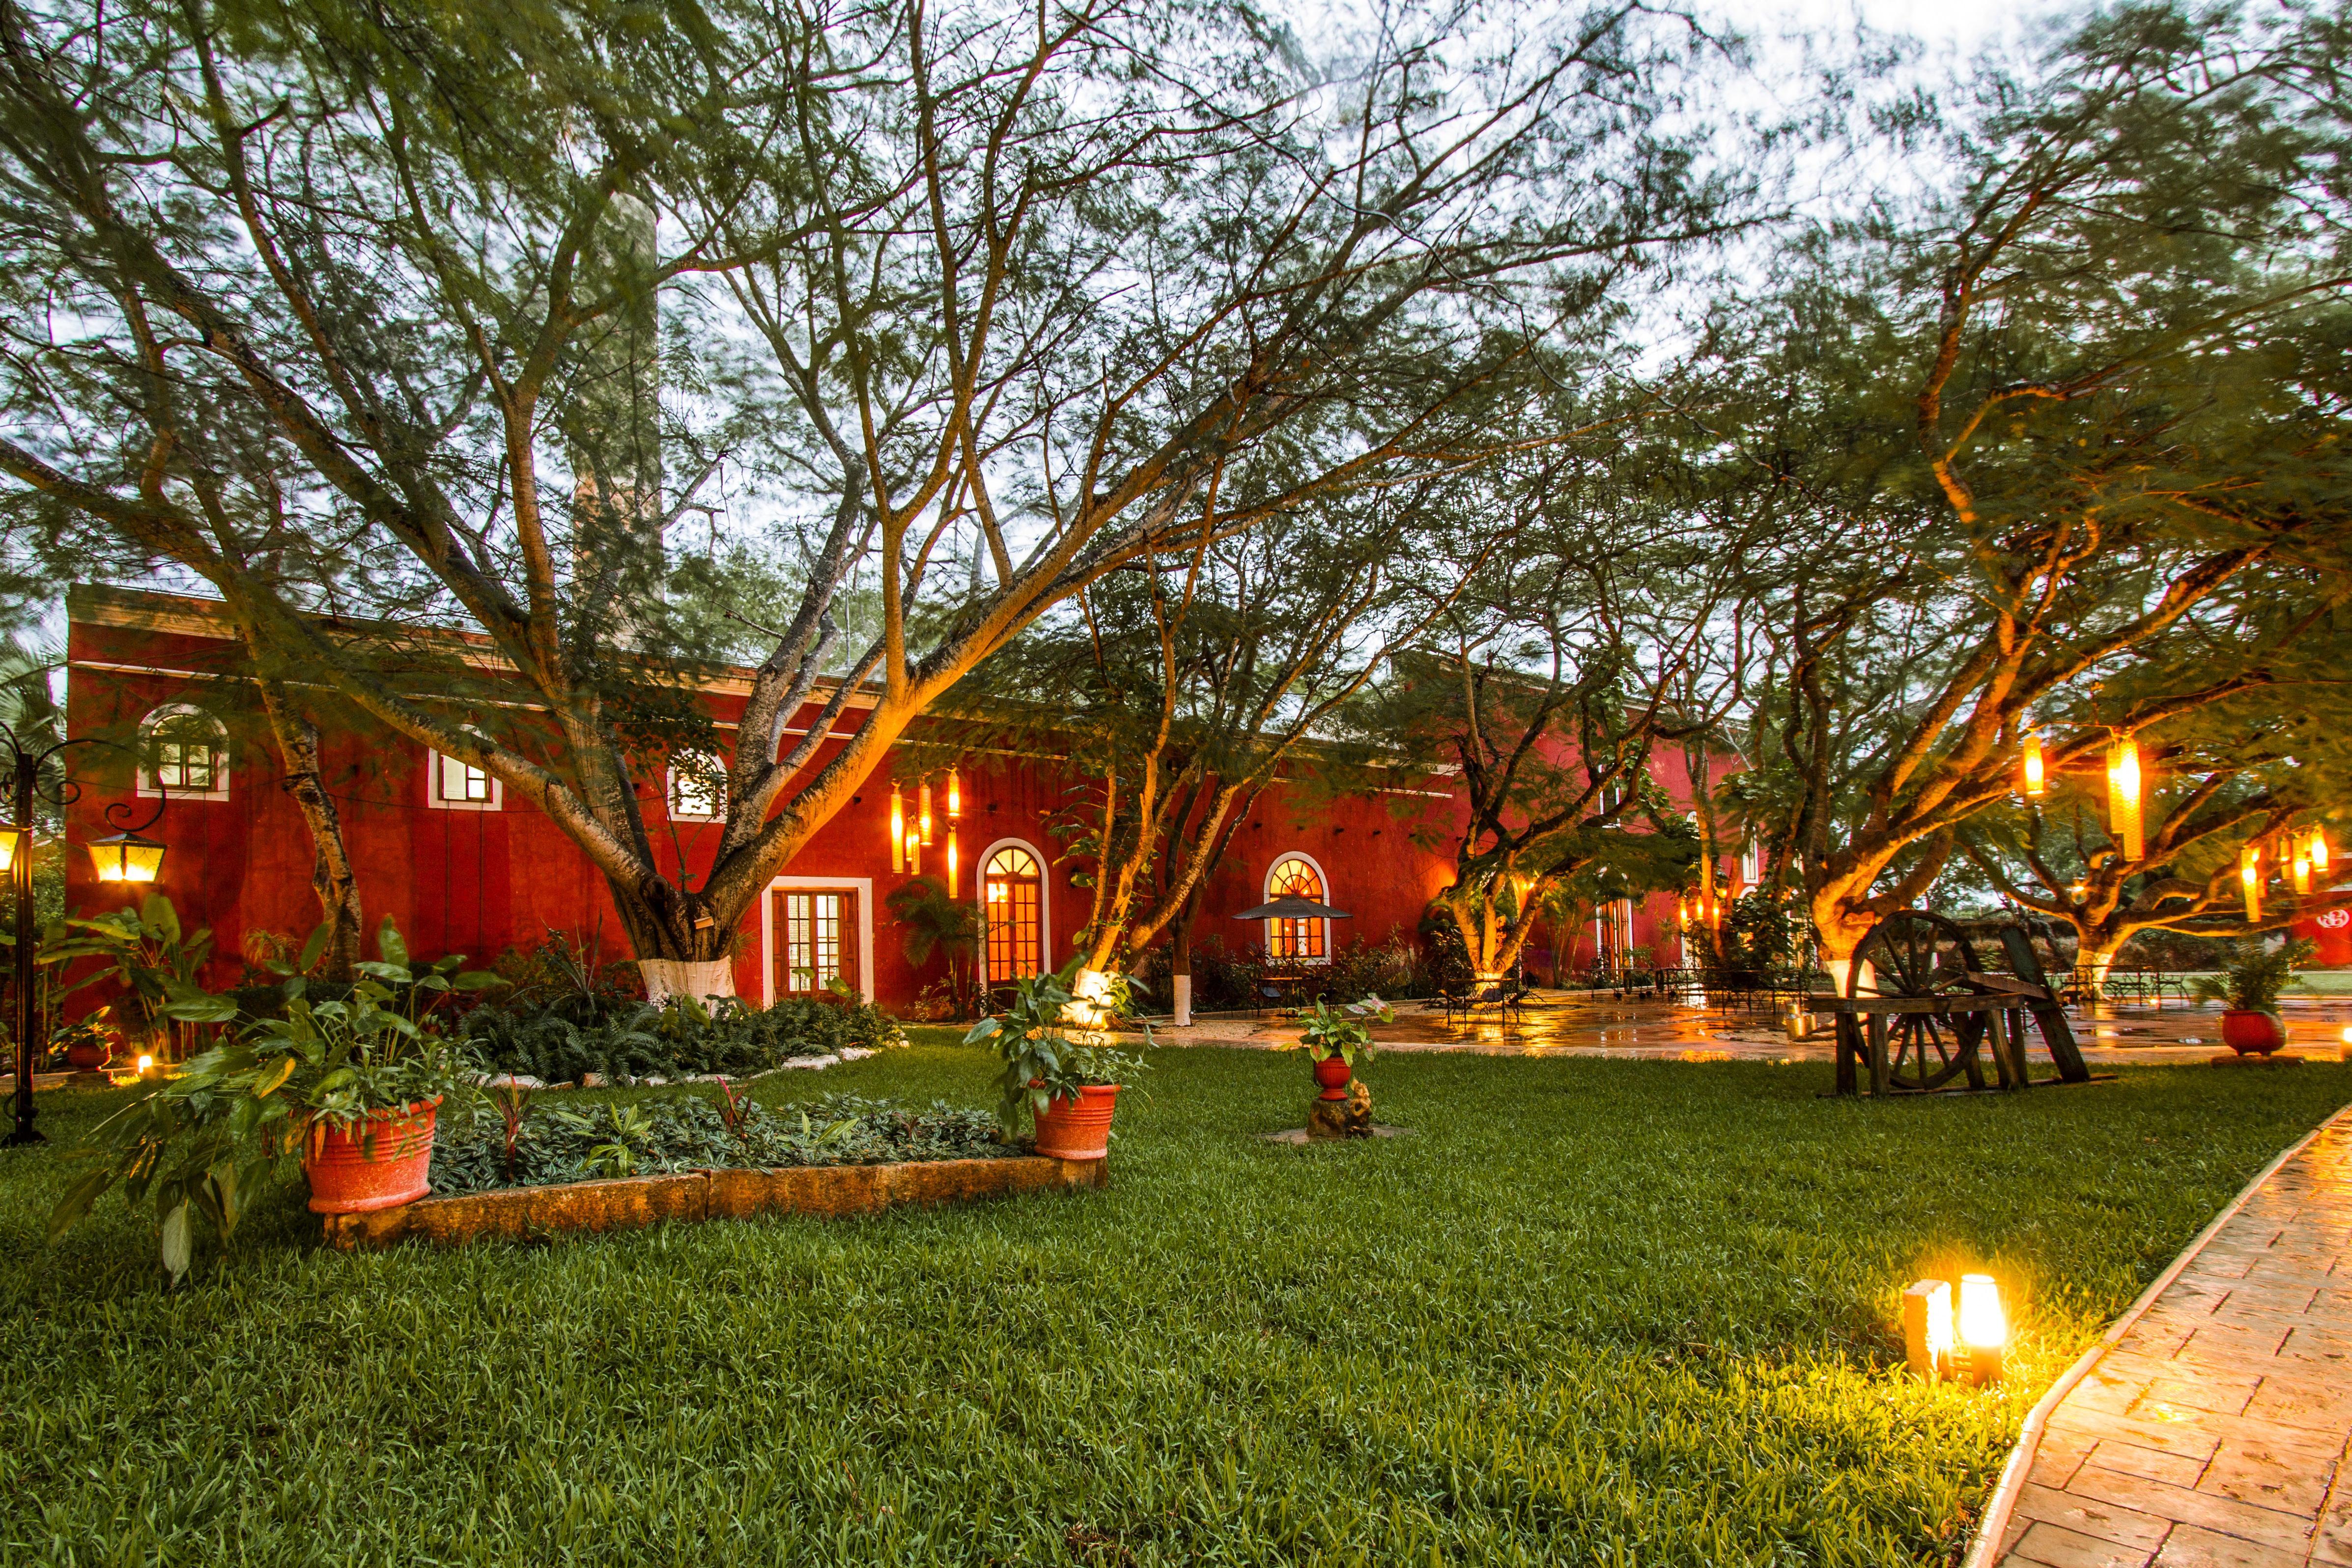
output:
[[[2336,14],[2098,14],[2034,80],[1907,115],[1931,193],[1804,235],[1724,317],[1757,411],[1726,444],[1792,524],[1738,792],[1832,973],[2009,795],[2034,712],[2171,672],[2053,741],[2084,764],[2260,686],[2338,602],[2343,42]],[[2246,656],[2216,675],[2213,644]]]

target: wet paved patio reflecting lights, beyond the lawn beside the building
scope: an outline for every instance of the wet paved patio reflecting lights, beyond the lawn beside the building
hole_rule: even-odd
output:
[[[1592,992],[1536,992],[1522,1023],[1505,1027],[1491,1013],[1477,1023],[1449,1025],[1428,1001],[1399,1001],[1397,1020],[1374,1025],[1381,1051],[1470,1051],[1486,1056],[1623,1056],[1653,1060],[1776,1060],[1825,1063],[1835,1058],[1828,1020],[1816,1039],[1792,1044],[1769,1013],[1738,1006],[1689,1006]],[[2352,997],[2281,1004],[2286,1056],[2338,1060],[2343,1032],[2352,1025]],[[2100,1004],[2072,1009],[2074,1039],[2096,1065],[2204,1065],[2223,1051],[2220,1009],[2197,1004]],[[1185,1030],[1155,1025],[1169,1046],[1251,1046],[1272,1051],[1298,1041],[1298,1020],[1218,1016]],[[2039,1034],[2027,1056],[2046,1063]]]

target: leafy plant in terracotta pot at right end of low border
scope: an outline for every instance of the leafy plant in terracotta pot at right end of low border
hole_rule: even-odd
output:
[[[1110,1044],[1108,1027],[1131,1018],[1131,976],[1080,971],[1077,990],[1058,976],[1014,980],[1011,1004],[981,1018],[964,1044],[993,1039],[1004,1072],[997,1126],[1018,1138],[1023,1119],[1037,1124],[1037,1152],[1054,1159],[1103,1159],[1110,1152],[1110,1114],[1124,1079],[1143,1070],[1143,1058]],[[1152,1044],[1150,1025],[1143,1044]]]

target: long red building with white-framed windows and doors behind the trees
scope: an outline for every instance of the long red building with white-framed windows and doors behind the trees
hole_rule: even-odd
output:
[[[108,771],[94,762],[101,750],[82,752],[82,797],[66,820],[73,846],[66,903],[87,912],[127,900],[132,889],[96,882],[82,846],[113,832],[108,806],[118,806],[120,820],[120,809],[146,816],[162,799],[162,816],[148,830],[169,846],[158,889],[181,919],[219,936],[209,978],[235,980],[240,954],[256,950],[261,933],[299,940],[318,924],[308,827],[259,722],[238,722],[259,710],[242,642],[219,604],[155,592],[75,588],[68,618],[73,733],[132,743],[176,719],[179,741],[148,745],[136,780],[127,759]],[[748,677],[734,672],[703,686],[722,724],[741,712]],[[809,705],[788,733],[807,733],[814,717]],[[1679,759],[1661,757],[1656,766],[1670,792],[1686,795]],[[388,914],[416,952],[463,952],[480,961],[508,947],[529,950],[550,931],[628,957],[604,879],[536,806],[506,802],[499,780],[372,722],[322,738],[322,773],[358,865],[369,929]],[[908,964],[882,905],[913,879],[891,870],[889,773],[877,769],[743,919],[734,980],[746,999],[769,1001],[840,973],[868,999],[906,1006],[936,978],[938,959],[924,971]],[[917,780],[901,783],[913,811]],[[960,783],[955,891],[983,905],[990,969],[1002,976],[1068,961],[1087,891],[1073,886],[1082,867],[1054,860],[1044,825],[1077,780],[1051,755],[995,748],[967,757]],[[666,870],[708,865],[720,827],[694,780],[668,776],[642,792]],[[943,816],[946,802],[936,811]],[[1341,799],[1275,785],[1237,830],[1209,886],[1197,940],[1221,933],[1228,950],[1294,940],[1329,952],[1399,931],[1414,936],[1428,900],[1451,882],[1458,823],[1444,778],[1399,773],[1395,788]],[[924,851],[924,872],[946,872],[943,827]],[[1291,933],[1230,919],[1277,891],[1315,889],[1352,919]],[[1571,961],[1588,964],[1595,940],[1672,954],[1672,914],[1670,893],[1609,910],[1578,933]]]

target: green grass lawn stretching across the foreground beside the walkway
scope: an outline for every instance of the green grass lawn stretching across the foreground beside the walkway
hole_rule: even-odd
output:
[[[762,1091],[985,1098],[917,1039]],[[0,1561],[1955,1561],[2039,1387],[2352,1100],[1828,1074],[1399,1053],[1411,1138],[1294,1150],[1301,1058],[1164,1051],[1098,1194],[355,1258],[289,1197],[179,1293],[118,1199],[45,1248],[64,1166],[7,1150]],[[1992,1392],[1900,1375],[1959,1262]]]

